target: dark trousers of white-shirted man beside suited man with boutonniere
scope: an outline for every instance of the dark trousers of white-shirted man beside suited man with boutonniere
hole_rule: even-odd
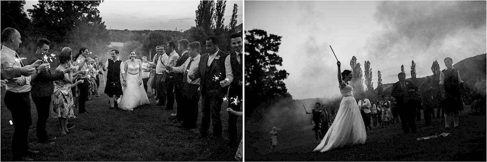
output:
[[[183,85],[181,102],[178,102],[178,117],[182,119],[183,126],[195,128],[198,121],[198,102],[200,101],[200,85],[189,84]]]

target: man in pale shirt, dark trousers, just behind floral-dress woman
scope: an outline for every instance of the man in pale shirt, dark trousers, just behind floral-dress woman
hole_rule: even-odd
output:
[[[88,65],[86,64],[86,56],[90,54],[88,51],[88,48],[86,47],[81,47],[79,49],[79,53],[77,56],[75,56],[76,61],[74,62],[75,66],[79,66],[78,70],[79,71],[87,71],[88,70]],[[85,60],[85,61],[83,61]],[[88,75],[84,74],[81,76],[80,79],[83,79],[84,82],[83,84],[78,84],[78,90],[79,90],[79,98],[78,98],[78,113],[79,114],[88,114],[88,111],[86,111],[85,104],[86,101],[88,101],[88,93],[90,89],[90,80],[88,78]]]

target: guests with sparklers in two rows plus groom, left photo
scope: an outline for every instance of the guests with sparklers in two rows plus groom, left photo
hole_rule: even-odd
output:
[[[186,39],[178,42],[168,42],[157,46],[157,54],[152,61],[143,58],[141,80],[147,91],[147,84],[151,75],[153,92],[156,94],[157,106],[172,110],[174,100],[178,104],[177,112],[173,118],[181,123],[184,129],[196,128],[198,118],[198,102],[202,97],[202,125],[197,138],[206,138],[210,121],[213,124],[213,136],[221,137],[222,121],[220,117],[222,103],[228,102],[228,146],[238,144],[237,118],[242,116],[242,90],[243,90],[243,40],[240,34],[232,34],[231,47],[235,52],[228,54],[219,49],[219,40],[215,36],[206,39],[208,53],[200,55],[199,42],[189,43]],[[5,87],[5,106],[12,113],[14,135],[12,138],[12,160],[34,161],[28,154],[37,154],[39,151],[30,149],[27,144],[28,130],[31,125],[30,96],[34,101],[37,112],[37,139],[40,144],[54,144],[56,137],[48,136],[46,122],[49,116],[58,119],[59,132],[65,135],[69,132],[68,119],[75,118],[74,110],[78,114],[89,114],[86,102],[91,95],[98,93],[99,76],[107,71],[107,64],[99,69],[98,58],[88,57],[89,49],[80,48],[78,54],[73,55],[69,47],[64,47],[60,54],[49,54],[51,42],[45,38],[37,40],[36,53],[32,57],[38,58],[34,63],[25,66],[16,53],[21,43],[19,31],[6,28],[1,33],[1,85]],[[176,52],[179,49],[180,54]],[[118,56],[118,51],[112,54]],[[131,52],[132,53],[132,52]],[[133,51],[135,54],[135,52]],[[54,55],[54,56],[53,56]],[[46,58],[50,56],[49,59]],[[54,58],[57,57],[57,58]],[[58,60],[55,72],[51,72],[52,59]],[[118,60],[118,57],[116,57]],[[50,60],[51,62],[49,62]],[[115,61],[115,60],[113,60]],[[123,71],[117,71],[117,76]],[[112,68],[113,69],[113,68]],[[150,73],[154,74],[150,74]],[[107,79],[107,86],[109,83]],[[120,78],[119,78],[120,82]],[[110,87],[110,86],[108,86]],[[105,93],[107,91],[105,90]],[[228,99],[225,95],[228,94]],[[111,108],[117,107],[117,98],[110,98]],[[239,146],[240,153],[236,158],[242,159],[242,141]]]

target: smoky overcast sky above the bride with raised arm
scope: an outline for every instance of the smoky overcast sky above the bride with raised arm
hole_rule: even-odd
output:
[[[411,77],[431,75],[438,60],[453,63],[486,53],[486,1],[245,1],[245,30],[282,36],[279,55],[290,73],[294,99],[338,95],[337,60],[351,69],[371,62],[383,83],[397,81],[401,65]]]

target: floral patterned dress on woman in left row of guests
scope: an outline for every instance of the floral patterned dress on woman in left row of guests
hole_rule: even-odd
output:
[[[53,118],[70,118],[74,116],[73,109],[75,104],[73,101],[73,93],[71,92],[71,84],[63,80],[54,81],[54,93],[51,102],[51,116]]]

